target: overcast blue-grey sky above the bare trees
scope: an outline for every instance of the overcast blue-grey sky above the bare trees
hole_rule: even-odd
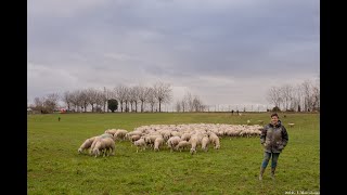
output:
[[[268,104],[320,73],[318,0],[29,0],[28,100],[169,82],[207,105]]]

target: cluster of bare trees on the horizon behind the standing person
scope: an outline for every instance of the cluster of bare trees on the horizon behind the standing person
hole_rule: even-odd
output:
[[[296,86],[271,87],[267,92],[267,101],[273,104],[278,110],[320,110],[319,80],[316,83],[311,80],[305,80]]]

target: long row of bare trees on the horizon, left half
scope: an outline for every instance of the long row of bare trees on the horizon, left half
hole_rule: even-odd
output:
[[[119,84],[113,90],[98,90],[93,88],[65,91],[62,95],[57,93],[48,94],[43,98],[35,98],[34,105],[30,107],[43,113],[52,113],[59,106],[59,101],[65,103],[68,110],[91,112],[108,110],[107,100],[117,100],[120,112],[144,112],[145,104],[150,105],[151,112],[154,112],[156,104],[158,112],[162,112],[162,105],[169,103],[172,99],[172,89],[169,83],[156,82],[153,87],[134,86],[127,87]]]

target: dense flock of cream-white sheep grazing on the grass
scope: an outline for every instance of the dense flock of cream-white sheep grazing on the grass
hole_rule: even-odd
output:
[[[226,125],[226,123],[188,123],[188,125],[151,125],[141,126],[128,132],[124,129],[107,129],[101,135],[87,139],[78,148],[79,153],[88,152],[95,157],[115,155],[115,142],[129,140],[131,146],[144,151],[190,151],[195,154],[198,146],[207,152],[208,145],[220,148],[223,136],[258,136],[262,129],[259,125]]]

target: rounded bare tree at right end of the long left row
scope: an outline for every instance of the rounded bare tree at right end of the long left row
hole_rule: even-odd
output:
[[[162,112],[162,103],[168,103],[172,98],[172,89],[169,83],[156,82],[154,84],[155,99],[159,103],[159,112]]]

